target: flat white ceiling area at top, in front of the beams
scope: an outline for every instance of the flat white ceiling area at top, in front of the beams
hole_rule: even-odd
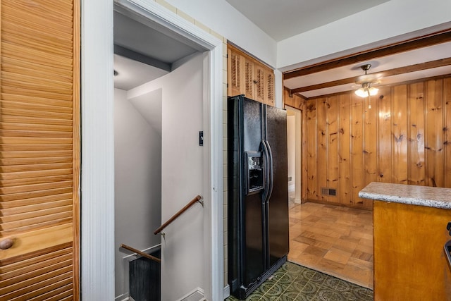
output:
[[[277,42],[389,0],[226,0]]]

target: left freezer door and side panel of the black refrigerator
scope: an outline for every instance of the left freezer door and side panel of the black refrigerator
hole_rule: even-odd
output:
[[[228,283],[230,293],[240,297],[257,287],[265,271],[264,210],[258,187],[260,180],[262,188],[265,185],[262,113],[258,102],[242,96],[228,99]]]

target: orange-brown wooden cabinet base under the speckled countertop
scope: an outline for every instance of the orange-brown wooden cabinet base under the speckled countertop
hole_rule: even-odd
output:
[[[375,201],[374,300],[451,300],[451,210]]]

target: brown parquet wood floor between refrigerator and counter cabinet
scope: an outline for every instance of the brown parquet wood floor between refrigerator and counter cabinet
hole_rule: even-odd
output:
[[[372,289],[372,211],[290,202],[288,259]]]

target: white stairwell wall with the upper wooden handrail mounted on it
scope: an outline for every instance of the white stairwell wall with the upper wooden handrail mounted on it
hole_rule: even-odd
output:
[[[162,168],[161,219],[166,221],[196,195],[206,197],[204,147],[198,145],[203,128],[203,63],[205,54],[168,75],[128,91],[128,98],[161,89]],[[208,197],[207,197],[208,198]],[[205,199],[208,202],[208,199]],[[204,288],[204,209],[194,204],[163,230],[161,240],[162,300],[178,300]],[[152,234],[153,235],[153,234]]]

